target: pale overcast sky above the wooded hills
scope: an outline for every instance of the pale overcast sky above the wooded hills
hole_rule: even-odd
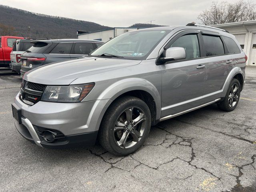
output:
[[[160,25],[198,23],[198,14],[209,8],[212,0],[0,0],[0,4],[105,26],[127,27],[150,20]]]

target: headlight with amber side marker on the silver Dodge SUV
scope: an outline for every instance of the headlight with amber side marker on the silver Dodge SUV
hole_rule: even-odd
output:
[[[82,101],[94,87],[94,83],[70,86],[47,86],[42,101],[74,103]]]

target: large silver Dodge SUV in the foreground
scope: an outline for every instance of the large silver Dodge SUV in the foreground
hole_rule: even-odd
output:
[[[160,121],[213,103],[234,110],[246,60],[234,35],[218,28],[127,32],[86,58],[26,73],[12,104],[15,125],[41,147],[93,145],[98,138],[106,150],[125,156]]]

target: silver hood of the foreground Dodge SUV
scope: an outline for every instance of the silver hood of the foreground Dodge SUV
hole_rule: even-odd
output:
[[[140,62],[140,60],[115,58],[76,58],[30,70],[25,73],[24,80],[46,85],[68,85],[77,78],[136,65]]]

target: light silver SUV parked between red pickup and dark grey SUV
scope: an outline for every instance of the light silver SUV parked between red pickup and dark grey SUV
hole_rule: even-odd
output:
[[[21,59],[20,56],[28,50],[33,44],[30,42],[34,40],[39,40],[38,38],[26,38],[26,39],[18,39],[14,42],[12,47],[12,52],[10,53],[10,68],[20,74],[21,69]],[[44,40],[44,39],[41,39]]]

